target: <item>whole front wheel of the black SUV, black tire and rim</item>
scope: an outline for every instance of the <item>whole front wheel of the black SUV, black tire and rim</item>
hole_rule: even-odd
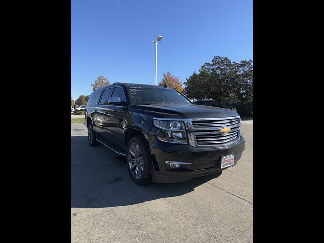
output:
[[[146,185],[150,183],[150,156],[145,139],[142,136],[131,138],[127,144],[126,151],[127,170],[132,180],[138,185]]]

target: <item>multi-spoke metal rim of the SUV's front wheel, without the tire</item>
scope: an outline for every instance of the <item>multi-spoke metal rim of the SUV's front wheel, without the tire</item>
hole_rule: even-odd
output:
[[[140,179],[144,171],[144,158],[137,143],[132,143],[128,150],[128,165],[134,178]]]

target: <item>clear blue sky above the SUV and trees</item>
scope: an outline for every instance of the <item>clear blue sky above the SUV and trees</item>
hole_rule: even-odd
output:
[[[252,0],[71,1],[71,90],[110,83],[154,84],[171,72],[185,82],[214,56],[253,60]],[[73,96],[73,92],[72,92]]]

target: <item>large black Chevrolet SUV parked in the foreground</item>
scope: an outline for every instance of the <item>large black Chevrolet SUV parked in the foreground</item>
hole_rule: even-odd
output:
[[[245,145],[236,111],[194,105],[163,86],[102,87],[89,97],[85,124],[89,144],[125,156],[139,185],[217,173],[236,165]]]

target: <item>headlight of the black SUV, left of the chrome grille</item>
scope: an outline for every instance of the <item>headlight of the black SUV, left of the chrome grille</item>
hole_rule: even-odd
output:
[[[187,134],[183,121],[153,120],[154,126],[160,130],[156,137],[164,142],[187,144]]]

